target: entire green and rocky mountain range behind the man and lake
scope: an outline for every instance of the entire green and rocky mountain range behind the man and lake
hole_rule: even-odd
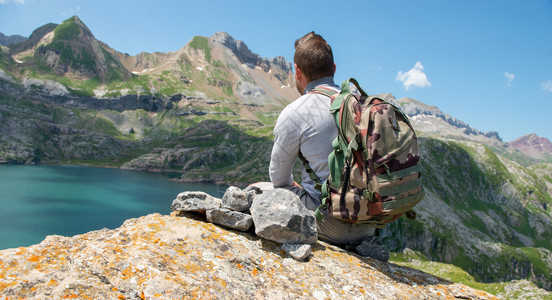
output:
[[[73,17],[1,46],[0,163],[266,181],[275,120],[297,96],[289,62],[262,58],[227,33],[130,56]],[[479,283],[529,280],[552,290],[551,160],[435,106],[395,102],[418,132],[427,196],[416,220],[382,230],[383,242],[395,253],[414,251],[420,264],[454,265]]]

